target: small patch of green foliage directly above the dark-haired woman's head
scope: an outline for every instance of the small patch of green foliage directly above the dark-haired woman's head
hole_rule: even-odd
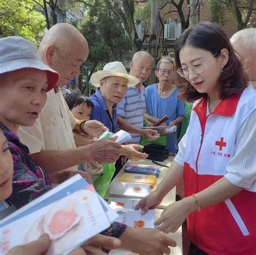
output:
[[[227,7],[219,0],[208,2],[210,9],[211,22],[224,26],[227,22]]]

